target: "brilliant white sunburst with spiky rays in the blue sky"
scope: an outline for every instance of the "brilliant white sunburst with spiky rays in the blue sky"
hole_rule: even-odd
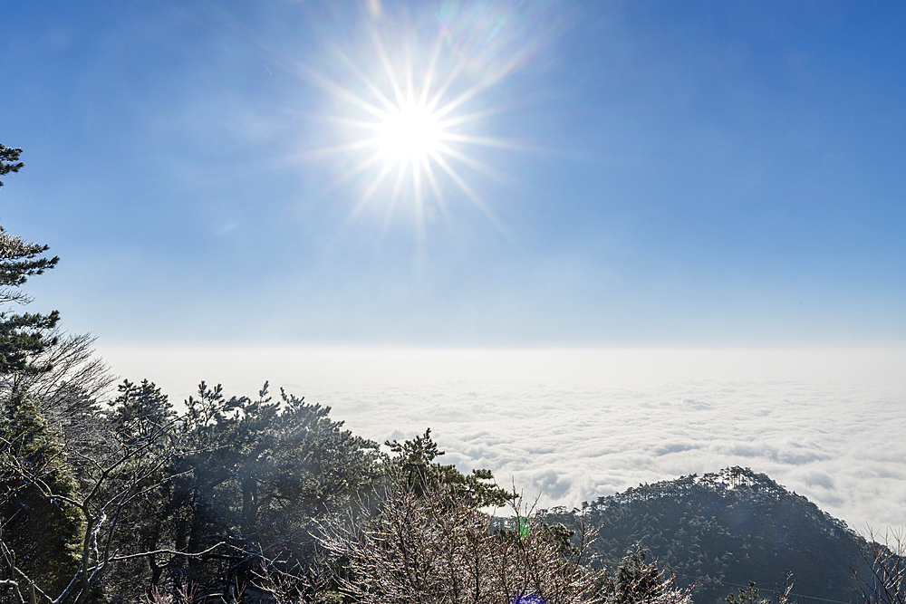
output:
[[[475,130],[498,111],[488,107],[482,93],[515,69],[524,56],[514,53],[508,62],[497,60],[481,72],[476,65],[482,57],[451,48],[449,36],[443,33],[427,52],[411,38],[394,47],[373,24],[371,39],[371,61],[356,61],[350,53],[337,51],[351,74],[349,81],[308,72],[309,79],[329,93],[330,121],[345,138],[322,149],[321,155],[348,156],[350,168],[341,179],[361,182],[351,215],[382,207],[386,225],[400,202],[405,202],[422,233],[426,205],[436,205],[448,217],[447,197],[455,193],[499,227],[468,181],[477,173],[503,177],[479,158],[478,148],[517,146],[506,139],[478,136]],[[363,68],[363,63],[370,63],[371,69]]]

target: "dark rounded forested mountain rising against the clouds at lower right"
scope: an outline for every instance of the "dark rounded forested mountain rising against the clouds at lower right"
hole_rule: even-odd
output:
[[[546,522],[572,527],[584,516],[600,529],[593,553],[610,567],[641,543],[679,584],[695,583],[698,604],[721,601],[749,580],[775,589],[787,573],[795,594],[856,601],[851,567],[868,576],[864,541],[846,523],[747,468],[641,484],[579,512],[554,508]]]

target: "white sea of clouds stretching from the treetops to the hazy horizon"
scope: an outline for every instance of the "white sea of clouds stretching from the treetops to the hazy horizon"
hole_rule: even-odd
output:
[[[430,427],[447,451],[441,461],[490,469],[498,483],[545,507],[741,465],[856,530],[906,526],[903,351],[104,354],[130,379],[155,380],[176,400],[199,379],[253,394],[270,377],[379,442]],[[133,365],[144,372],[127,372]]]

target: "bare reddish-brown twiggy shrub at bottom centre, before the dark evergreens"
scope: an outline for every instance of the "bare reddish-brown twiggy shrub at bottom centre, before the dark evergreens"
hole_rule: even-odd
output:
[[[516,508],[513,528],[443,489],[416,494],[398,488],[364,523],[334,522],[324,547],[348,567],[344,595],[376,604],[546,604],[594,601],[599,572],[583,565],[593,532],[583,525],[578,545]]]

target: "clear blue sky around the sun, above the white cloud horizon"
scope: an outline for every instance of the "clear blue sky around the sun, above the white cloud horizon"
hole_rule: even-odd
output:
[[[900,3],[337,4],[5,6],[0,224],[62,257],[34,310],[130,345],[906,341]],[[443,204],[360,204],[341,93],[438,40],[487,212],[440,170]]]

